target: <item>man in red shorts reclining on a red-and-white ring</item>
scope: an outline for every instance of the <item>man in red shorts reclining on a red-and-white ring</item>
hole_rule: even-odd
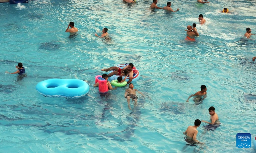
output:
[[[132,68],[133,68],[133,64],[132,63],[129,63],[128,65],[126,65],[123,69],[120,69],[116,66],[112,66],[108,69],[101,69],[102,71],[111,71],[111,70],[114,70],[113,72],[109,73],[108,74],[108,77],[111,77],[113,75],[118,75],[118,76],[121,76],[121,74],[123,75],[129,75],[129,81],[127,82],[127,84],[129,84],[130,82],[132,82],[132,78],[133,78],[133,71],[132,71]]]

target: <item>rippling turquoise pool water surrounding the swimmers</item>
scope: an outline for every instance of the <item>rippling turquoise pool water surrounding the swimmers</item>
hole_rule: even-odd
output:
[[[175,13],[151,12],[147,0],[41,0],[0,4],[1,152],[254,152],[236,149],[236,134],[256,136],[256,37],[254,1],[172,1]],[[167,1],[158,1],[165,6]],[[227,7],[232,14],[219,13]],[[198,25],[203,14],[206,24]],[[79,33],[65,30],[75,22]],[[200,37],[185,41],[187,25]],[[94,36],[107,27],[112,40]],[[27,76],[14,72],[22,62]],[[130,111],[125,88],[100,96],[93,88],[100,69],[132,62],[140,71],[134,83],[138,106]],[[79,99],[45,98],[35,87],[49,78],[82,79],[90,85]],[[207,86],[207,98],[195,105],[190,94]],[[221,126],[202,123],[197,139],[183,137],[195,119],[208,120],[215,107]],[[253,145],[253,144],[252,144]]]

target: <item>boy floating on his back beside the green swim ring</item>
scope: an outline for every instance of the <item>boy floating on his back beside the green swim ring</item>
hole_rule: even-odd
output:
[[[126,89],[125,90],[125,93],[124,93],[124,97],[125,98],[127,98],[127,103],[128,103],[128,108],[130,109],[130,110],[132,110],[131,109],[131,106],[130,106],[130,99],[132,99],[132,100],[134,100],[134,107],[136,107],[137,106],[137,99],[138,99],[138,97],[137,97],[137,95],[136,95],[136,91],[138,91],[137,89],[133,89],[133,84],[132,83],[130,83],[129,84],[129,88],[128,89]],[[140,91],[138,91],[143,97],[145,97]]]

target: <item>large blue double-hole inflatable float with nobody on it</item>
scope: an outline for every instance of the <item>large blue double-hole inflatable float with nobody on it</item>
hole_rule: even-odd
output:
[[[89,85],[78,79],[48,79],[36,84],[44,97],[80,98],[89,91]]]

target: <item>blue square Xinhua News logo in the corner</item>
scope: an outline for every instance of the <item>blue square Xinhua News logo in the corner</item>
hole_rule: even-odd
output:
[[[250,133],[236,134],[236,148],[251,148],[252,135]]]

